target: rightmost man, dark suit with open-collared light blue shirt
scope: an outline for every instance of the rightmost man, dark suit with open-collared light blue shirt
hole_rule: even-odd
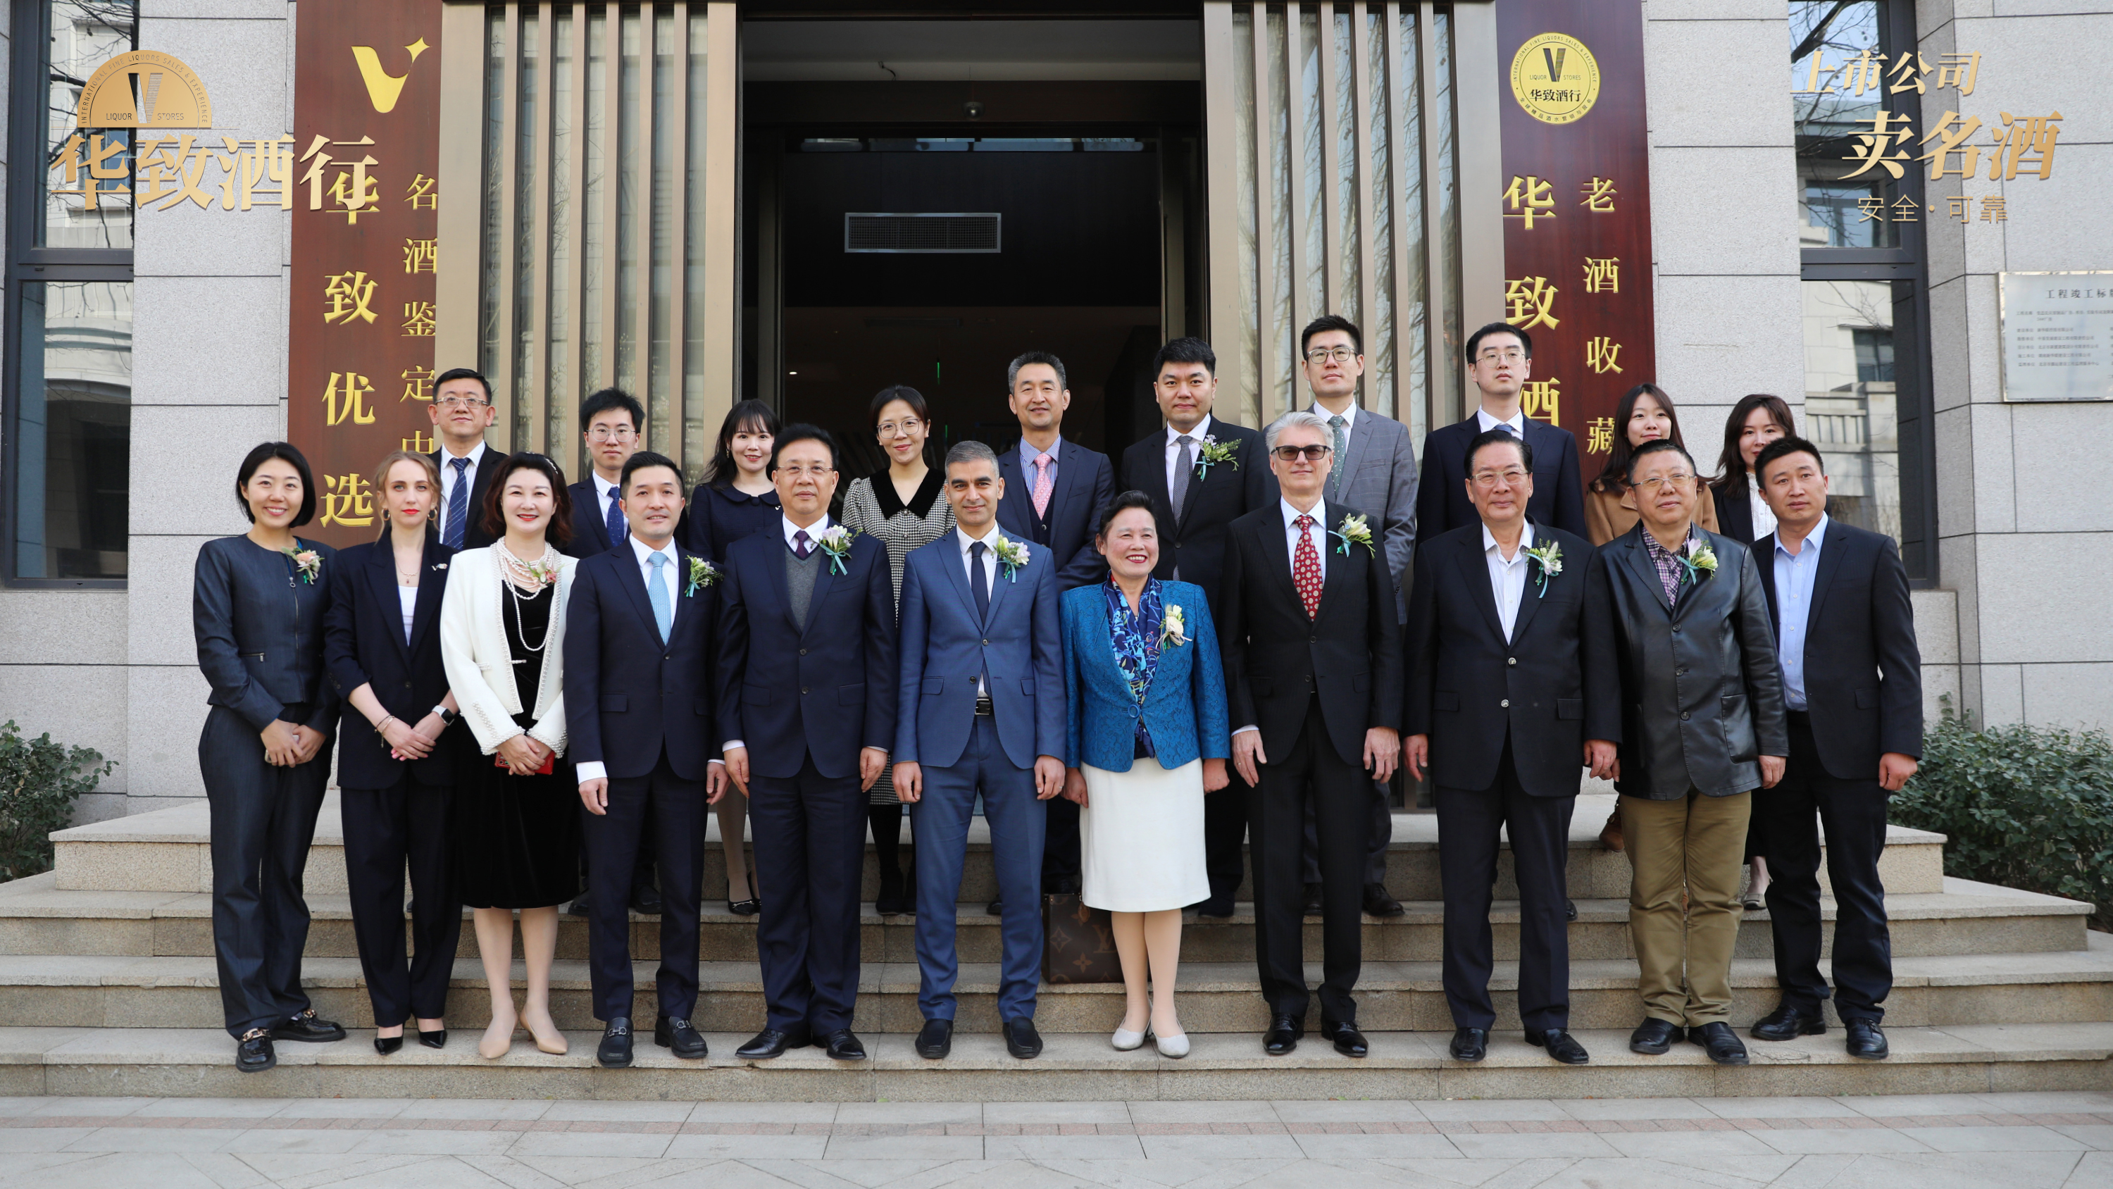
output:
[[[1889,536],[1828,515],[1819,448],[1777,437],[1754,460],[1775,532],[1754,543],[1769,596],[1790,762],[1775,788],[1754,794],[1760,853],[1769,855],[1769,929],[1781,1005],[1754,1039],[1788,1041],[1828,1031],[1819,974],[1819,832],[1834,883],[1834,1009],[1849,1056],[1881,1060],[1893,940],[1885,923],[1885,805],[1923,756],[1923,653],[1914,644],[1908,570]]]

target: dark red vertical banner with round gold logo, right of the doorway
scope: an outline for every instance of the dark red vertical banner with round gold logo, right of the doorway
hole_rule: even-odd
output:
[[[1534,338],[1526,416],[1568,429],[1591,482],[1621,395],[1657,382],[1644,6],[1504,0],[1496,44],[1504,319]]]

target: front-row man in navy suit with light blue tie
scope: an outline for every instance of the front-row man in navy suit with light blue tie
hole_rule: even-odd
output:
[[[714,579],[704,558],[674,541],[682,473],[640,450],[623,465],[628,549],[596,553],[573,577],[564,619],[564,724],[568,760],[587,811],[583,834],[594,870],[632,870],[651,845],[661,887],[659,1018],[653,1041],[680,1058],[704,1058],[697,1007],[697,898],[704,807],[725,792],[710,756]],[[647,819],[651,815],[651,843]],[[632,1062],[630,912],[594,898],[587,917],[596,1058]]]

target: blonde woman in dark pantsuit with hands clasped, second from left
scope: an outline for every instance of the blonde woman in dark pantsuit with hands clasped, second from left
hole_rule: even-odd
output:
[[[397,450],[374,471],[374,509],[387,534],[338,551],[323,621],[330,684],[351,705],[338,748],[344,874],[359,969],[374,1005],[374,1052],[448,1043],[448,976],[463,933],[450,879],[448,811],[461,731],[440,659],[440,598],[448,558],[433,509],[440,467]],[[412,950],[404,959],[404,866],[410,864]]]

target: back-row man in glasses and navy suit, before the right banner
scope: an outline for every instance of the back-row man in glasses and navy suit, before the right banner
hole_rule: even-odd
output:
[[[1534,448],[1534,498],[1526,517],[1570,536],[1585,532],[1585,486],[1578,441],[1568,429],[1542,424],[1519,408],[1519,389],[1534,372],[1534,340],[1494,321],[1466,338],[1466,374],[1481,389],[1481,408],[1466,420],[1424,435],[1424,477],[1416,488],[1416,541],[1481,524],[1466,498],[1466,446],[1492,429],[1509,429]]]

